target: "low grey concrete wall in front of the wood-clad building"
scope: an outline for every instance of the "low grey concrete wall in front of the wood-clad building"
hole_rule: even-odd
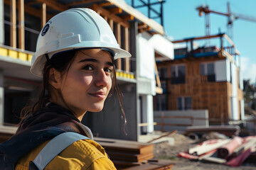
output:
[[[193,111],[154,111],[154,116],[192,116],[194,118],[193,125],[209,125],[208,120],[196,120],[196,118],[208,119],[208,110],[193,110]],[[161,118],[154,118],[154,122],[161,123]],[[190,118],[165,118],[164,123],[171,124],[191,124]],[[160,125],[155,125],[154,130],[161,130]],[[186,126],[164,126],[164,130],[179,130],[185,131]]]

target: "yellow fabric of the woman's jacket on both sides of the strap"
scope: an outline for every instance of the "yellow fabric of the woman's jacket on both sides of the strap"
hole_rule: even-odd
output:
[[[41,149],[49,141],[43,142],[31,152],[18,160],[16,170],[28,170],[30,161],[36,158]],[[85,170],[85,169],[116,169],[107,157],[105,149],[93,140],[78,140],[60,152],[45,168],[45,170]]]

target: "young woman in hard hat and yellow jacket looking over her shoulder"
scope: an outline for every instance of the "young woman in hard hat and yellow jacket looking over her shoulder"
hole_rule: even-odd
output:
[[[35,105],[23,109],[16,134],[0,145],[0,168],[40,169],[33,161],[48,142],[76,132],[91,140],[73,142],[45,169],[115,169],[80,121],[87,111],[102,111],[107,96],[117,90],[114,59],[130,56],[95,11],[72,8],[50,19],[38,36],[31,66],[43,77],[43,90]]]

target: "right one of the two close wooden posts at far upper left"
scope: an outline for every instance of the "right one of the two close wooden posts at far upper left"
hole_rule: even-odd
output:
[[[18,0],[18,47],[25,49],[24,0]]]

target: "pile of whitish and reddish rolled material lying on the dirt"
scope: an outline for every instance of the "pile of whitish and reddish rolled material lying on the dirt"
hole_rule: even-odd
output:
[[[188,149],[187,152],[178,153],[178,157],[229,166],[240,166],[247,157],[250,157],[255,152],[256,136],[249,136],[225,140],[206,140],[196,147]]]

